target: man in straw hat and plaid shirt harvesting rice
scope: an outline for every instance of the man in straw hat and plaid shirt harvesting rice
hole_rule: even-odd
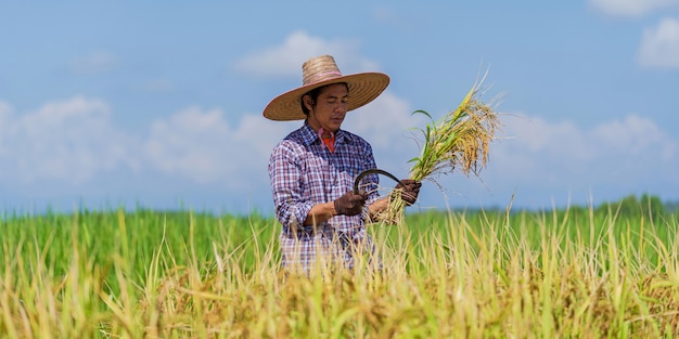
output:
[[[354,181],[374,169],[371,145],[342,130],[347,112],[361,107],[389,83],[381,73],[343,76],[330,55],[302,66],[303,84],[273,99],[264,116],[271,120],[304,120],[272,151],[269,178],[276,216],[282,224],[282,265],[308,272],[316,263],[351,269],[359,253],[372,253],[366,219],[375,218],[392,198],[413,205],[420,182],[405,179],[397,194],[380,197],[377,174]]]

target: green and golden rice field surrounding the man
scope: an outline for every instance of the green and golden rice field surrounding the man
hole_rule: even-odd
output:
[[[672,338],[676,211],[408,213],[382,270],[279,268],[271,218],[5,212],[0,338]]]

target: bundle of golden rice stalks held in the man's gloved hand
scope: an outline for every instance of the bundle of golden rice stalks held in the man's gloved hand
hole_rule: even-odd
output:
[[[458,108],[438,121],[424,110],[413,113],[424,114],[431,122],[420,130],[424,140],[420,156],[409,161],[413,164],[411,179],[436,183],[436,175],[451,173],[456,169],[467,177],[470,173],[479,175],[488,161],[489,144],[495,139],[495,131],[500,127],[498,115],[491,106],[495,100],[484,103],[478,97],[482,83],[483,79],[477,81]],[[386,223],[402,224],[405,208],[402,199],[390,199],[388,208],[377,217]]]

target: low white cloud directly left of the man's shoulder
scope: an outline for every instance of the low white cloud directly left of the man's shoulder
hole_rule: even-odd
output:
[[[219,109],[191,107],[153,122],[144,153],[161,172],[238,187],[253,172],[266,172],[269,153],[285,133],[261,116],[245,116],[231,127]]]

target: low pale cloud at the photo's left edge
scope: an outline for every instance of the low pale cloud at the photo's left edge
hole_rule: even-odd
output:
[[[129,139],[111,123],[108,105],[76,96],[15,115],[0,105],[0,178],[25,183],[82,183],[102,170],[136,168]]]

